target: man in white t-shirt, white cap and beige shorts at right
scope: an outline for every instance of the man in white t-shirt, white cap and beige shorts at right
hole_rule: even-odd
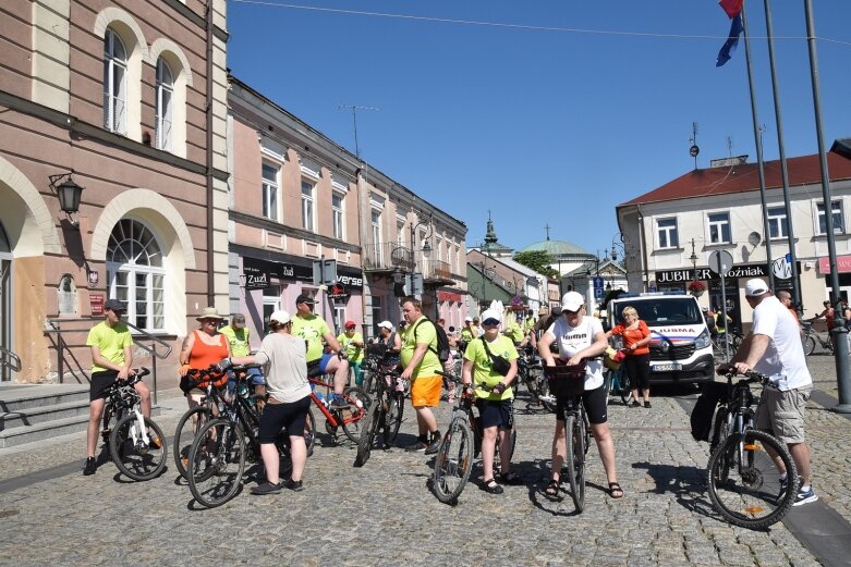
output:
[[[804,410],[813,379],[806,368],[798,322],[762,280],[749,280],[744,296],[754,310],[753,326],[730,363],[718,367],[718,372],[732,366],[738,372],[753,369],[771,380],[763,390],[756,427],[770,431],[789,447],[801,477],[793,506],[815,502],[818,496],[811,485],[810,448],[804,440]],[[781,486],[785,489],[786,482]]]

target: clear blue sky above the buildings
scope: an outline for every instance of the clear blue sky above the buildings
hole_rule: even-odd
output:
[[[851,1],[813,0],[825,144],[851,136]],[[301,7],[301,8],[300,8]],[[309,10],[415,16],[360,15]],[[764,156],[778,158],[763,2],[746,0]],[[788,157],[817,152],[803,0],[771,2]],[[437,20],[507,25],[474,25]],[[521,27],[528,26],[528,27]],[[540,29],[540,28],[557,29]],[[756,161],[744,41],[716,0],[230,0],[241,81],[485,235],[610,247],[615,207],[730,155]]]

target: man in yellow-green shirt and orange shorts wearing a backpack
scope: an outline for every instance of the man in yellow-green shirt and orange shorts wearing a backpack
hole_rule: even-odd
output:
[[[443,379],[437,372],[443,369],[437,355],[437,330],[423,315],[418,299],[402,299],[402,313],[408,321],[408,331],[402,341],[402,378],[411,380],[411,405],[416,411],[420,437],[405,451],[425,451],[426,455],[437,453],[440,431],[431,411],[440,403]]]

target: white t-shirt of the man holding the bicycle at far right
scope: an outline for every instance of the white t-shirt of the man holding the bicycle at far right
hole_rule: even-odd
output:
[[[770,337],[763,359],[754,370],[771,379],[778,390],[792,390],[813,383],[806,368],[798,322],[777,297],[766,297],[754,309],[753,334]]]

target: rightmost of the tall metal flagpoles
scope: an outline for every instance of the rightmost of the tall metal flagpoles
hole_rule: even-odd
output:
[[[839,308],[839,271],[836,266],[836,238],[834,236],[834,205],[830,190],[830,174],[827,171],[824,134],[822,132],[822,94],[818,88],[818,61],[815,52],[815,24],[813,23],[812,0],[804,0],[806,12],[806,41],[810,47],[810,76],[813,82],[813,110],[815,111],[815,132],[818,141],[818,160],[822,165],[822,196],[825,206],[825,230],[827,231],[827,256],[830,262],[830,305],[836,312],[837,325],[832,329],[834,357],[836,359],[836,381],[839,404],[834,411],[851,414],[851,369],[848,363],[848,331],[842,310]]]

